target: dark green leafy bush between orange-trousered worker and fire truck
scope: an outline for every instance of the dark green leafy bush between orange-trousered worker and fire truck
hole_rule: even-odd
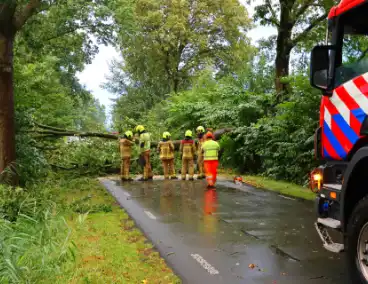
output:
[[[235,135],[225,139],[229,146],[225,162],[238,165],[242,172],[299,184],[306,181],[316,165],[313,135],[318,126],[320,94],[302,77],[293,78],[291,90],[288,99],[273,108],[274,112],[237,127]]]

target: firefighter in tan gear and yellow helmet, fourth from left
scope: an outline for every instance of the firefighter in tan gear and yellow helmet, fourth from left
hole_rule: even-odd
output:
[[[185,132],[184,140],[180,143],[180,153],[182,158],[181,167],[181,179],[185,180],[187,173],[189,174],[189,180],[194,180],[194,156],[195,156],[195,144],[193,141],[193,133],[191,130]]]

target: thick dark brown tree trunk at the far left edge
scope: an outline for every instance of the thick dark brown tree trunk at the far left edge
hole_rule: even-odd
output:
[[[12,165],[16,159],[13,42],[13,35],[0,33],[0,173]]]

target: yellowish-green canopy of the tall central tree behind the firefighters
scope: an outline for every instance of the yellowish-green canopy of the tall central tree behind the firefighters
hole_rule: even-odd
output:
[[[121,113],[134,104],[135,119],[169,93],[190,88],[209,66],[222,77],[254,55],[246,36],[251,20],[237,0],[119,0],[112,9],[123,60],[111,65],[105,86],[123,95]]]

